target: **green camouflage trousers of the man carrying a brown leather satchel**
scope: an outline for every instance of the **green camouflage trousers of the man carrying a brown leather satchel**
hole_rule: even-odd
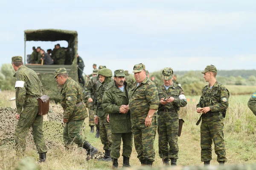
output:
[[[26,149],[26,136],[31,126],[38,153],[47,152],[43,133],[43,119],[43,116],[38,115],[38,106],[23,108],[14,132],[17,155],[20,155]]]

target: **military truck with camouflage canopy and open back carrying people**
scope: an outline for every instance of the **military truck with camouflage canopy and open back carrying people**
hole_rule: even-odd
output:
[[[41,64],[27,64],[26,62],[26,41],[60,41],[65,40],[68,42],[68,50],[70,55],[72,55],[71,65],[41,65]],[[39,79],[44,86],[44,94],[48,95],[51,100],[55,102],[60,101],[61,87],[58,82],[53,78],[54,71],[57,68],[66,68],[69,77],[78,82],[77,75],[77,32],[60,30],[60,29],[39,29],[39,30],[25,30],[24,31],[24,41],[25,41],[25,51],[24,51],[24,65],[31,68],[37,74]]]

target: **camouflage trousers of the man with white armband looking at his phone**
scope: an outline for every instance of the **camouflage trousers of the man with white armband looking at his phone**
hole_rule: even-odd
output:
[[[179,116],[177,112],[158,111],[158,147],[162,159],[178,159]]]

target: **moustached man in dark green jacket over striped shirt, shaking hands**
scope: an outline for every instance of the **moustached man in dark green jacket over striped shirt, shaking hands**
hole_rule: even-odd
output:
[[[109,114],[112,132],[113,168],[118,167],[121,141],[123,141],[123,167],[131,167],[129,163],[132,150],[131,119],[130,111],[125,108],[129,102],[128,93],[131,86],[125,81],[124,70],[116,70],[114,71],[114,81],[108,85],[102,99],[103,110]]]

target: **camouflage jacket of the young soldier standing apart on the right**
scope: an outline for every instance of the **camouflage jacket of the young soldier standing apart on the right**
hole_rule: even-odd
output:
[[[202,90],[202,96],[197,108],[210,107],[210,111],[224,111],[228,108],[229,91],[219,82],[215,82],[210,89],[209,85],[206,85]]]

